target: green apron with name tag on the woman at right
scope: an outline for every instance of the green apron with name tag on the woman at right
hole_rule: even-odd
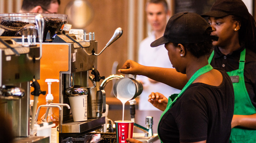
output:
[[[208,59],[211,63],[214,56],[214,51]],[[234,115],[251,115],[256,113],[255,107],[252,105],[250,97],[245,87],[244,79],[245,68],[245,49],[240,54],[239,69],[229,71],[227,74],[230,76],[234,92],[235,92],[235,106]],[[234,127],[231,129],[229,139],[230,143],[256,143],[256,130]]]

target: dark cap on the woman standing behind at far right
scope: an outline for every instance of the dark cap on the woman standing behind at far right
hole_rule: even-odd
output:
[[[242,0],[217,0],[210,11],[202,14],[202,17],[224,17],[234,15],[244,19],[249,17],[248,9]]]

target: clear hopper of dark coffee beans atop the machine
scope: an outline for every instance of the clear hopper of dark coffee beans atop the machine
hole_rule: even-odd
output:
[[[1,13],[0,28],[4,29],[1,36],[27,36],[24,34],[26,29],[36,29],[35,16],[38,13]],[[44,17],[43,41],[47,34],[51,37],[63,31],[63,25],[67,24],[68,16],[66,14],[41,13]],[[32,33],[30,35],[36,34]]]

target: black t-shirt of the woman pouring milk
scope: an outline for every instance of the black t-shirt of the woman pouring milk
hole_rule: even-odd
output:
[[[221,69],[220,86],[191,84],[160,120],[158,134],[164,143],[228,143],[234,113],[234,89]]]

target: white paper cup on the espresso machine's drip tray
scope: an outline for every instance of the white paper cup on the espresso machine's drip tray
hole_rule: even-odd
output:
[[[70,96],[72,116],[75,122],[87,120],[87,95]]]

